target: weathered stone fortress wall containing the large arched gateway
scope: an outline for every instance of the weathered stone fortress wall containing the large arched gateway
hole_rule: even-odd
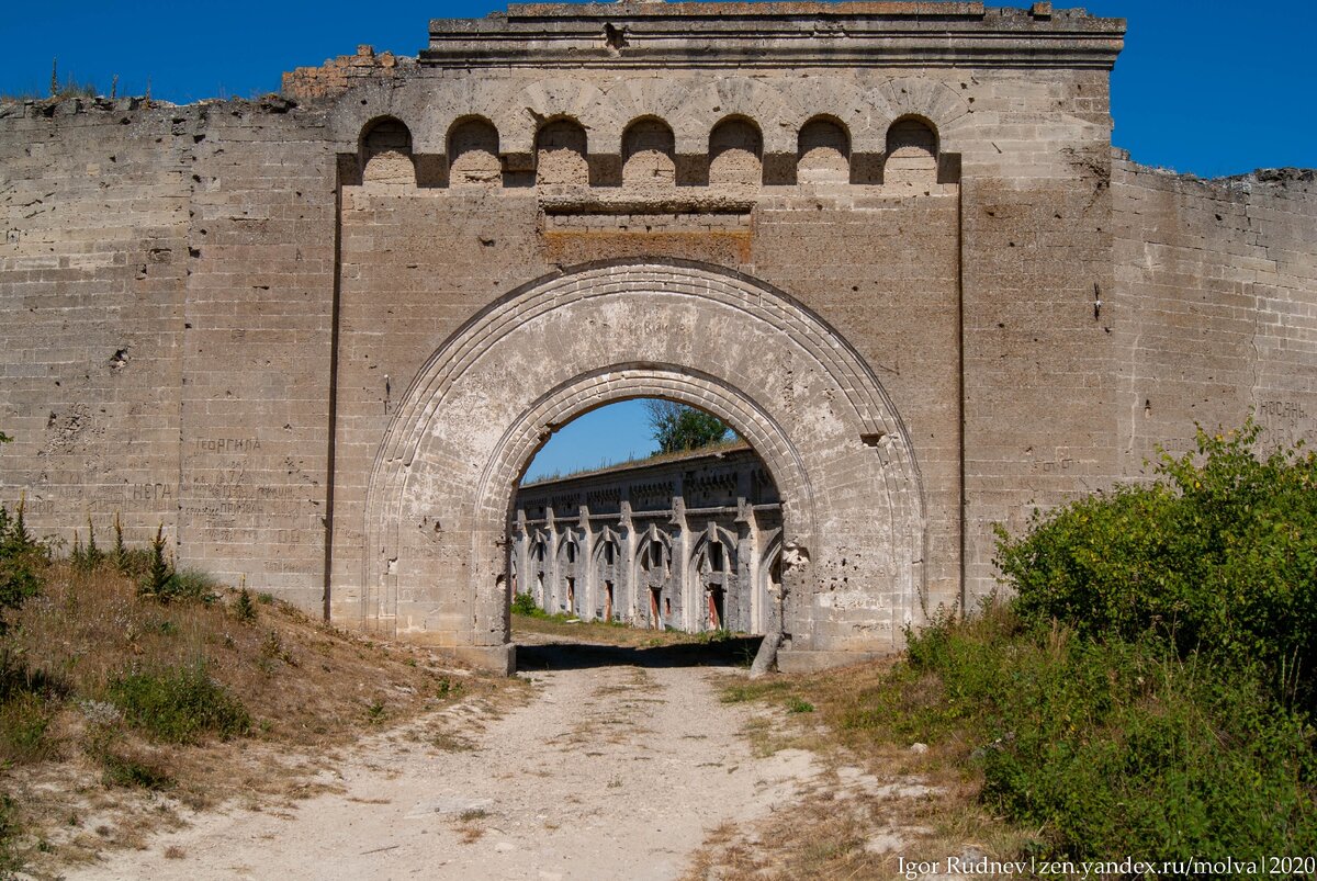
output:
[[[668,396],[781,490],[785,664],[892,651],[993,523],[1195,421],[1313,436],[1312,175],[1113,153],[1122,34],[527,4],[262,101],[0,105],[0,500],[502,665],[525,462]]]

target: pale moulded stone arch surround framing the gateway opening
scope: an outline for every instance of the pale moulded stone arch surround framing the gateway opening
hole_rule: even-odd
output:
[[[798,549],[784,572],[784,666],[890,652],[922,608],[923,499],[910,441],[859,354],[788,295],[677,261],[602,263],[483,309],[417,374],[366,499],[373,629],[511,669],[512,495],[552,431],[668,398],[759,452]]]

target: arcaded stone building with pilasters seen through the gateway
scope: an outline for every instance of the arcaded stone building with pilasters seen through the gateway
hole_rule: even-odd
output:
[[[761,635],[781,583],[782,506],[752,449],[539,481],[516,494],[510,593],[547,612]]]

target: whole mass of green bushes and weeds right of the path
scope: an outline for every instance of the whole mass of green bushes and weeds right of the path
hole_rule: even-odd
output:
[[[1317,852],[1317,457],[1258,440],[1000,531],[1014,598],[910,635],[842,727],[969,744],[1040,853]]]

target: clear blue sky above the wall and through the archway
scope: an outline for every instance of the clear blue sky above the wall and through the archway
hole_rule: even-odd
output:
[[[1029,5],[993,3],[989,5]],[[1201,176],[1255,167],[1317,166],[1317,4],[1270,0],[1055,0],[1125,17],[1125,51],[1112,76],[1113,141],[1146,165]],[[506,8],[460,3],[11,3],[0,14],[0,93],[43,93],[61,79],[103,92],[186,103],[252,97],[279,74],[352,54],[358,43],[415,54],[437,17]],[[645,453],[652,442],[637,403],[616,404],[564,428],[533,467],[566,470]]]

